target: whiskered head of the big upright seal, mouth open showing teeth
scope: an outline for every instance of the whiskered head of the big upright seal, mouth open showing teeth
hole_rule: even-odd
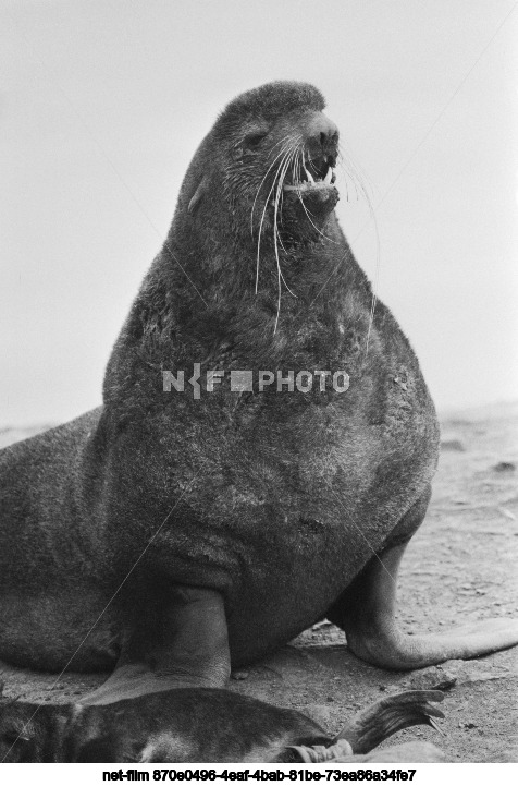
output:
[[[230,218],[234,233],[264,242],[318,240],[338,199],[338,130],[323,108],[319,90],[298,82],[272,82],[235,98],[193,160],[184,209],[194,215],[210,195],[219,229]]]

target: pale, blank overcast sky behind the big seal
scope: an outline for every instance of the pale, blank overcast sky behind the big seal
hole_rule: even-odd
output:
[[[0,426],[100,402],[194,150],[279,78],[322,90],[363,172],[379,292],[439,408],[518,398],[514,5],[2,0]],[[365,202],[337,210],[374,277]]]

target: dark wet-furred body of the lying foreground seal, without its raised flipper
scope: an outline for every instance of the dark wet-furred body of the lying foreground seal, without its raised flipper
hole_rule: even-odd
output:
[[[331,742],[294,710],[224,690],[180,689],[101,708],[2,704],[5,761],[282,761],[288,746]]]

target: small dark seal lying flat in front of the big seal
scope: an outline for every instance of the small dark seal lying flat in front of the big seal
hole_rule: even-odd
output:
[[[89,706],[0,699],[0,762],[371,761],[365,754],[396,731],[444,717],[434,706],[442,699],[441,691],[386,697],[334,738],[300,712],[218,688]],[[412,751],[415,760],[432,752],[432,761],[443,761],[433,746],[417,743]],[[383,761],[412,761],[408,752],[391,759],[397,747],[385,750]]]

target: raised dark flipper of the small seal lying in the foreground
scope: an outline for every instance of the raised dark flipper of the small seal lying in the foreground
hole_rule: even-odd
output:
[[[354,753],[368,753],[404,728],[421,724],[435,726],[433,717],[444,717],[444,714],[432,702],[443,699],[440,690],[408,690],[387,696],[356,713],[334,742],[345,739]]]

